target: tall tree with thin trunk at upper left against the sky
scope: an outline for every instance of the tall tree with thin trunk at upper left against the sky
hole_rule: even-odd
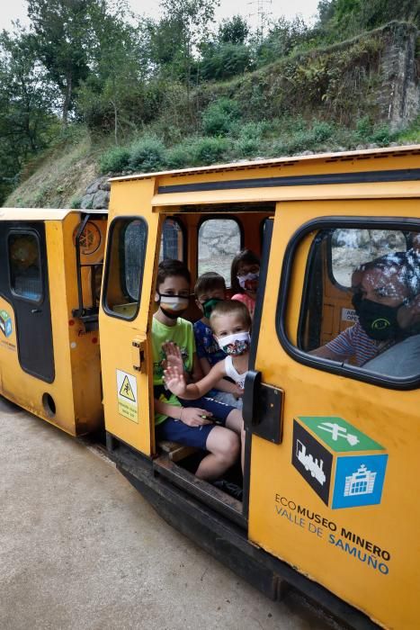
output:
[[[75,90],[89,74],[89,47],[94,40],[91,11],[104,0],[28,0],[32,47],[49,79],[62,94],[62,120],[74,105]]]

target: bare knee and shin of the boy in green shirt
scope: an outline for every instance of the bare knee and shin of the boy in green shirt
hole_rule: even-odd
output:
[[[219,479],[235,464],[239,455],[239,440],[233,431],[224,427],[214,427],[207,438],[206,448],[210,455],[201,460],[195,476],[212,481]]]

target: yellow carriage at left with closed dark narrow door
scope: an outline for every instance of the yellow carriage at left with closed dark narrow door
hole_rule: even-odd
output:
[[[73,436],[103,426],[106,222],[103,211],[0,211],[0,392]]]

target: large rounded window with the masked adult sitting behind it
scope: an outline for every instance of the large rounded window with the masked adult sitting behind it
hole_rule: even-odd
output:
[[[365,231],[370,238],[365,238]],[[407,242],[412,247],[407,249]],[[362,380],[416,384],[420,377],[416,242],[416,232],[403,234],[401,229],[322,229],[302,238],[309,253],[297,345],[310,356],[310,365],[313,359],[324,364],[327,359],[326,369],[345,370]],[[331,257],[340,286],[326,273]]]

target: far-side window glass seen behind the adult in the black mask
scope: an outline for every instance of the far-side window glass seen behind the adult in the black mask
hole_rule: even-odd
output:
[[[401,251],[407,251],[407,240],[403,232],[396,229],[334,229],[331,235],[331,273],[337,284],[349,288],[355,267]]]

